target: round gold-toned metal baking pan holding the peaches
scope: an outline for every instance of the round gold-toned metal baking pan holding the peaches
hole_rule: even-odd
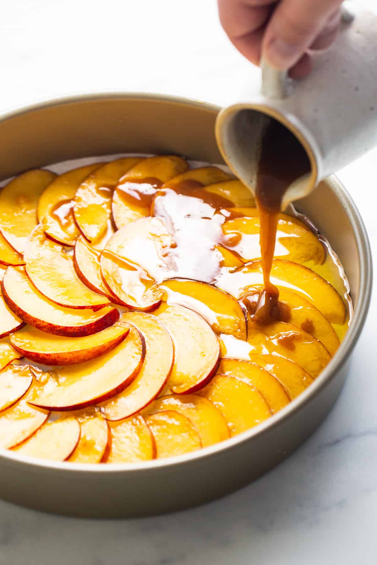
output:
[[[0,180],[66,159],[114,153],[176,153],[222,163],[210,103],[150,94],[55,99],[0,116]],[[343,386],[369,306],[372,265],[365,227],[332,176],[297,204],[336,251],[354,316],[336,355],[315,382],[255,428],[188,455],[138,464],[29,459],[0,449],[0,497],[72,516],[142,516],[184,509],[257,479],[323,421]]]

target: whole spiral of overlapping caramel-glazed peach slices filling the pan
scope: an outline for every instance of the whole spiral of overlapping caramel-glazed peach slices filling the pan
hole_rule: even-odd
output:
[[[0,193],[0,446],[141,463],[287,406],[336,354],[350,312],[341,276],[318,275],[332,261],[323,241],[287,214],[278,229],[280,298],[261,325],[255,202],[221,168],[125,157],[12,180]]]

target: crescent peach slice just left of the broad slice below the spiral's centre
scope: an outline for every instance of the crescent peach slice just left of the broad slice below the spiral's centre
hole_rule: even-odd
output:
[[[127,418],[157,397],[166,384],[174,360],[170,334],[155,316],[128,312],[123,314],[123,322],[132,324],[144,337],[145,360],[133,383],[102,405],[108,420]]]

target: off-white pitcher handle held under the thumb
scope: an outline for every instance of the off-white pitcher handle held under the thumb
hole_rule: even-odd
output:
[[[341,22],[348,25],[354,20],[354,14],[349,10],[348,5],[341,8]],[[293,90],[293,80],[289,78],[288,71],[279,71],[271,67],[262,57],[262,94],[266,98],[283,100],[291,95]]]

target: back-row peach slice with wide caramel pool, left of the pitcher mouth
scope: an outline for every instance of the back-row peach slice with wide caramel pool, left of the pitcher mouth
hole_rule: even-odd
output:
[[[188,168],[175,155],[149,157],[129,169],[120,179],[112,196],[112,217],[118,229],[131,221],[149,216],[154,194],[163,184]]]

